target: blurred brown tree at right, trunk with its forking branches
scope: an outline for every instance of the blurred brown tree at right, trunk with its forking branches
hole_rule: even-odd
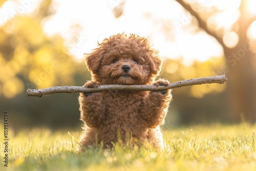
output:
[[[256,121],[256,55],[250,51],[247,39],[247,29],[255,17],[246,9],[246,1],[241,1],[239,25],[239,42],[232,49],[227,48],[214,31],[209,30],[206,22],[202,20],[188,4],[182,0],[176,0],[197,20],[199,27],[206,33],[216,38],[222,45],[226,57],[227,69],[222,72],[227,75],[227,91],[229,96],[230,120],[234,122]]]

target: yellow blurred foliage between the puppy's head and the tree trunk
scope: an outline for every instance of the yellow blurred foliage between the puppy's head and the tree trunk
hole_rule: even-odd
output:
[[[225,66],[225,59],[222,57],[212,57],[204,62],[195,61],[193,65],[185,66],[182,59],[168,59],[163,62],[161,77],[170,82],[222,75],[222,67]],[[180,95],[187,95],[196,98],[202,98],[206,94],[216,94],[225,90],[225,84],[202,84],[197,86],[188,86],[182,89],[175,89]]]

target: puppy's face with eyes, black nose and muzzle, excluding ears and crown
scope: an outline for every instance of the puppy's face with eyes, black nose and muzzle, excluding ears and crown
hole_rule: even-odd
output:
[[[141,56],[106,54],[98,72],[103,84],[146,84],[151,77],[150,66]]]

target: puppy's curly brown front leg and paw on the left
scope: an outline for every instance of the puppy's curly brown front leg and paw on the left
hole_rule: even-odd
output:
[[[88,81],[83,87],[96,88],[100,84],[95,81]],[[79,96],[81,120],[86,122],[88,126],[99,127],[105,118],[102,112],[101,92],[97,93],[80,93]]]

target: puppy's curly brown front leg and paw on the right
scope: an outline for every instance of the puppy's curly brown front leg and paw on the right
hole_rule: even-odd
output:
[[[155,86],[167,86],[166,79],[157,80]],[[165,115],[168,111],[170,100],[172,100],[172,90],[151,91],[145,98],[145,105],[143,108],[143,117],[148,123],[149,127],[156,127],[164,121]]]

